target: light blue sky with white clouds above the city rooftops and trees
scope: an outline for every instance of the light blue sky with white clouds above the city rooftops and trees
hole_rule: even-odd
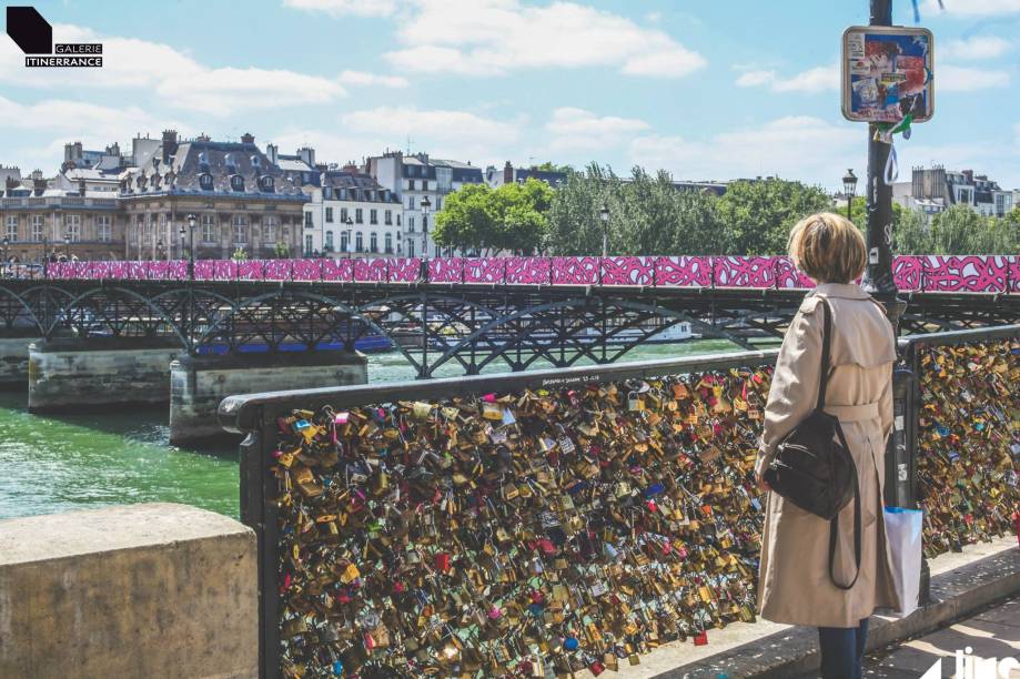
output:
[[[22,4],[23,2],[18,2]],[[898,141],[1020,188],[1020,0],[921,0],[936,116]],[[390,149],[502,165],[595,160],[677,179],[778,174],[835,189],[867,133],[839,112],[840,36],[867,0],[39,1],[93,70],[26,69],[0,37],[0,163],[168,126],[317,159]],[[897,23],[913,23],[893,0]]]

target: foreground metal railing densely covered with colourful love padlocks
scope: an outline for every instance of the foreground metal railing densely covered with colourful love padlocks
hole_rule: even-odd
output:
[[[901,349],[890,501],[927,510],[930,555],[1008,530],[1020,326]],[[563,673],[754,620],[775,356],[226,398],[264,676]]]

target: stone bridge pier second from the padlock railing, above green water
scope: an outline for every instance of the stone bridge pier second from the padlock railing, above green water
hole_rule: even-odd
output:
[[[50,340],[29,347],[29,412],[170,401],[166,376],[179,345],[109,337]]]

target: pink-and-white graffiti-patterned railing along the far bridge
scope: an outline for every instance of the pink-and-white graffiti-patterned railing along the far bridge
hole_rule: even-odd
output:
[[[58,262],[52,278],[188,280],[184,261]],[[898,255],[893,278],[905,292],[1020,291],[1018,255]],[[16,268],[41,276],[39,268]],[[425,274],[427,277],[423,277]],[[198,260],[202,281],[430,283],[492,285],[635,285],[646,287],[806,288],[814,283],[787,256],[415,257]]]

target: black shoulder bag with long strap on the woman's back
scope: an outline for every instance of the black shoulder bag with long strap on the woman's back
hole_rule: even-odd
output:
[[[829,343],[832,310],[818,297],[824,325],[821,335],[821,378],[815,409],[776,446],[776,455],[763,476],[771,489],[805,511],[829,521],[829,579],[840,589],[850,589],[860,575],[860,485],[857,465],[844,436],[839,418],[822,411],[829,382]],[[839,510],[854,500],[854,557],[857,572],[849,585],[836,581],[836,538]]]

